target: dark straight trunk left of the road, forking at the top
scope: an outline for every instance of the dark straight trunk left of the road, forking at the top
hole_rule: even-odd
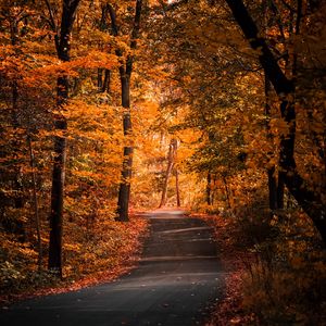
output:
[[[71,60],[71,34],[76,17],[77,7],[80,0],[63,0],[60,30],[53,16],[50,2],[46,0],[49,10],[50,22],[55,32],[54,41],[58,58],[67,62]],[[57,105],[60,112],[54,116],[54,128],[60,134],[54,136],[54,159],[52,172],[51,212],[50,212],[50,247],[49,269],[62,277],[62,223],[63,223],[63,192],[66,161],[67,121],[64,115],[68,100],[68,77],[58,77],[57,80]]]

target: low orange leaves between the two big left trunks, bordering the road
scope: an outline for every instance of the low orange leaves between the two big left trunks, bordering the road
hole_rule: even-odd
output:
[[[101,212],[95,220],[89,215],[83,217],[82,227],[74,228],[67,225],[65,233],[65,276],[79,277],[79,275],[92,274],[101,271],[112,273],[122,263],[133,259],[140,249],[139,237],[147,229],[147,222],[143,218],[130,216],[128,224],[116,223],[111,218],[112,212],[100,204]],[[113,216],[112,216],[113,217]],[[88,221],[88,222],[86,222]],[[86,235],[86,223],[89,229]],[[76,254],[78,252],[78,254]]]

